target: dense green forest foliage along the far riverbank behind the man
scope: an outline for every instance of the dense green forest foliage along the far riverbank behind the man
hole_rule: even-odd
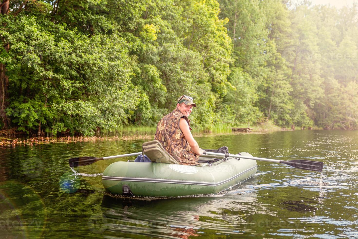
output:
[[[0,25],[8,127],[27,133],[155,125],[182,94],[197,102],[202,129],[265,120],[358,129],[357,8],[10,0]]]

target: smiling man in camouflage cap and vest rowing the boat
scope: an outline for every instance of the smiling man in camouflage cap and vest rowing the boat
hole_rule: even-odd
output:
[[[154,139],[180,164],[196,164],[204,152],[190,132],[188,117],[196,106],[192,97],[180,96],[176,108],[159,121],[155,132]]]

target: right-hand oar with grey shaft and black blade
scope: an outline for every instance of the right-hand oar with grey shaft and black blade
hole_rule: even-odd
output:
[[[229,158],[246,158],[246,159],[253,159],[253,160],[258,160],[258,161],[272,162],[272,163],[284,163],[284,164],[290,165],[295,168],[317,171],[317,172],[321,172],[323,169],[323,162],[309,161],[309,160],[304,160],[304,159],[284,161],[284,160],[269,159],[269,158],[256,158],[256,157],[243,156],[243,155],[237,155],[237,154],[228,154],[228,153],[227,154],[211,153],[211,152],[206,152],[206,151],[204,151],[203,154],[223,156],[223,157],[229,157]]]

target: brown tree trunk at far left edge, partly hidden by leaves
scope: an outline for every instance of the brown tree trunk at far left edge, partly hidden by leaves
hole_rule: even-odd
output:
[[[1,14],[9,14],[9,0],[2,1],[3,7],[1,8]],[[2,39],[4,43],[4,39]],[[9,51],[9,43],[4,44],[6,52]],[[6,67],[5,64],[0,63],[0,117],[3,121],[3,129],[9,129],[10,121],[6,116],[6,108],[8,106],[8,87],[9,78],[5,75]]]

